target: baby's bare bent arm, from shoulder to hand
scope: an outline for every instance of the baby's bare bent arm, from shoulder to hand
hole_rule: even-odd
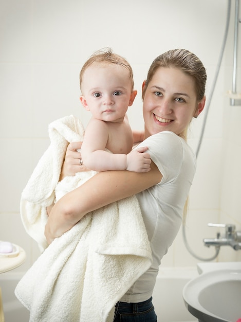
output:
[[[90,120],[81,147],[83,164],[95,171],[129,170],[135,172],[150,171],[151,159],[142,147],[126,154],[114,154],[105,151],[108,142],[108,127],[101,120]]]

